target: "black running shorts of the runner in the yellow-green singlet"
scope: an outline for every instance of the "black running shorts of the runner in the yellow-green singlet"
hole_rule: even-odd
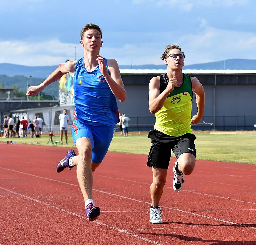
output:
[[[176,158],[183,153],[191,153],[196,157],[194,134],[184,134],[181,136],[170,136],[157,130],[152,130],[148,134],[151,139],[151,148],[148,154],[148,167],[168,169],[171,152]]]

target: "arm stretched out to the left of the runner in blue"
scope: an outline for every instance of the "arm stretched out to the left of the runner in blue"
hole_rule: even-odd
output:
[[[74,75],[76,61],[68,61],[64,66],[58,67],[50,76],[48,76],[43,83],[38,86],[31,86],[28,88],[26,93],[27,96],[37,95],[40,91],[42,91],[49,84],[59,80],[64,74],[70,73],[72,76]]]

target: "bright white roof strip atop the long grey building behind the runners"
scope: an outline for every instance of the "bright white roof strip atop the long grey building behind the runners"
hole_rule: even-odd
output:
[[[162,74],[167,70],[120,69],[121,74]],[[187,74],[256,74],[256,70],[182,70]]]

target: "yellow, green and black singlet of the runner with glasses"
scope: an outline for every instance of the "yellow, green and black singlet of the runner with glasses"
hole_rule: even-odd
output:
[[[168,84],[167,73],[160,75],[160,93]],[[156,112],[155,129],[171,136],[192,133],[192,83],[189,75],[183,73],[183,83],[168,95],[163,107]]]

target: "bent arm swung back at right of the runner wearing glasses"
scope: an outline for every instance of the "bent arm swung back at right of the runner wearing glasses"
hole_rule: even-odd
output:
[[[192,124],[197,124],[204,115],[204,88],[196,77],[191,77],[192,90],[196,94],[197,114],[191,118]]]

